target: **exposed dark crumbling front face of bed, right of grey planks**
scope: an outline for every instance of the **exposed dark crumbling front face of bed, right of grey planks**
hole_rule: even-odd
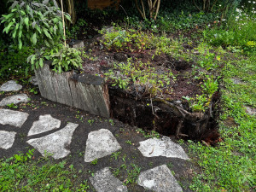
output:
[[[219,92],[216,92],[212,97],[212,114],[206,115],[202,119],[196,119],[198,118],[196,113],[196,118],[193,116],[190,119],[183,119],[163,102],[153,102],[153,113],[150,100],[136,100],[131,94],[115,87],[109,87],[109,96],[113,118],[124,123],[147,131],[158,131],[168,137],[176,136],[185,140],[204,141],[209,145],[215,145],[219,142],[217,121]],[[182,103],[182,106],[184,110],[189,111],[186,102]],[[177,127],[180,122],[182,124],[179,134],[177,134]]]

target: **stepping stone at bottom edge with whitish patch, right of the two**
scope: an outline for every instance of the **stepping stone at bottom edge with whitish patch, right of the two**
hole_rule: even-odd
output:
[[[137,184],[141,185],[144,189],[158,192],[183,191],[166,165],[141,172],[137,178]]]

